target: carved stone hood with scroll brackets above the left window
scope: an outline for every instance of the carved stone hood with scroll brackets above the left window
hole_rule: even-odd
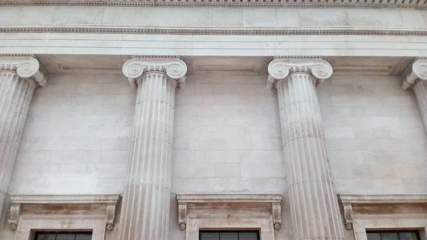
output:
[[[11,229],[16,230],[19,217],[25,212],[22,206],[39,206],[38,210],[48,209],[58,205],[72,205],[73,209],[85,209],[87,206],[106,206],[105,226],[112,230],[115,224],[115,211],[120,195],[19,195],[11,194],[11,212],[9,224]],[[51,211],[52,212],[52,211]],[[33,213],[32,213],[33,214]],[[53,213],[54,214],[54,211]]]

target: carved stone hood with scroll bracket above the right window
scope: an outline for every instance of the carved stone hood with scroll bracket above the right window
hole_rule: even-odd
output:
[[[427,204],[427,194],[420,195],[341,195],[339,201],[342,204],[344,224],[346,229],[352,229],[355,219],[363,218],[368,214],[369,218],[374,215],[382,215],[387,212],[388,218],[399,218],[399,207],[401,209],[417,208],[417,204]],[[384,209],[394,208],[394,214]],[[360,211],[363,209],[363,211]],[[367,210],[369,209],[369,210]],[[367,213],[369,211],[369,213]],[[419,209],[418,209],[419,211]],[[420,212],[420,214],[426,214]],[[378,217],[377,217],[378,218]]]

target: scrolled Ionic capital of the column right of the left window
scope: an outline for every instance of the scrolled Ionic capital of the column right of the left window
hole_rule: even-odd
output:
[[[183,87],[187,67],[179,58],[132,58],[123,65],[122,71],[133,88],[137,88],[137,78],[149,72],[165,73],[176,80],[177,86]]]

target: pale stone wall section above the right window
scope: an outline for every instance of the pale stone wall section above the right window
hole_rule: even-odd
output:
[[[426,130],[398,76],[334,75],[317,90],[339,194],[426,194]]]

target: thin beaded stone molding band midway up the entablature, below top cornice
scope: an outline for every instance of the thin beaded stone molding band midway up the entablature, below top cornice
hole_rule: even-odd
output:
[[[427,28],[140,28],[110,26],[1,26],[0,33],[124,33],[178,35],[387,35],[427,36]]]

